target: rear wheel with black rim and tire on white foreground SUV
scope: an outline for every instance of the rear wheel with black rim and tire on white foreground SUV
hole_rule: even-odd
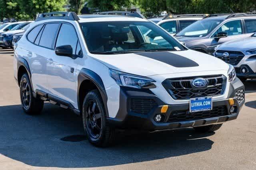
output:
[[[25,73],[20,80],[20,101],[26,114],[38,115],[44,107],[44,101],[34,98],[28,74]]]

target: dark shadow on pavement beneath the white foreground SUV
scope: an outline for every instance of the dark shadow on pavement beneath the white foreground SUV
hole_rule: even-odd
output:
[[[41,115],[20,105],[0,106],[0,154],[31,166],[81,168],[144,162],[210,150],[213,141],[193,129],[120,134],[115,146],[96,148],[84,136],[79,116],[46,103]],[[66,137],[66,138],[65,138]],[[80,140],[63,140],[79,137]]]

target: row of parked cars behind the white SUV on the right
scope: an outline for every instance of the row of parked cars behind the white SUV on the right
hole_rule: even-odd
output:
[[[256,78],[256,13],[190,14],[151,18],[189,49],[235,67],[245,81]],[[157,35],[150,35],[157,39]]]

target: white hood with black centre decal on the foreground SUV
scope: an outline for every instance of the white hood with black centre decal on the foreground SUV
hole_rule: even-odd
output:
[[[92,55],[92,57],[109,68],[140,76],[228,70],[229,68],[228,64],[222,60],[193,50]]]

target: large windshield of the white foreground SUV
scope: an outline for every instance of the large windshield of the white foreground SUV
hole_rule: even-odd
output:
[[[116,54],[137,51],[185,50],[178,41],[148,21],[80,23],[90,53]],[[143,35],[148,29],[152,34]]]

